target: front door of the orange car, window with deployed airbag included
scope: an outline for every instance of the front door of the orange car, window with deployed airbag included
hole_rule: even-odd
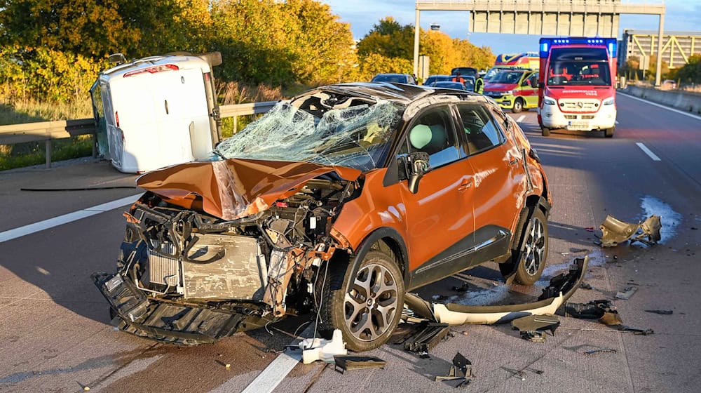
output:
[[[429,154],[431,169],[418,192],[407,181],[400,193],[407,211],[407,251],[411,287],[441,279],[470,264],[466,252],[474,246],[472,168],[456,134],[449,105],[425,109],[408,125],[398,156]]]

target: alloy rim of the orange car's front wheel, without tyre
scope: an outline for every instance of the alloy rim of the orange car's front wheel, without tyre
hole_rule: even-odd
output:
[[[362,267],[343,305],[348,331],[358,340],[376,340],[390,328],[398,301],[397,282],[386,267]]]

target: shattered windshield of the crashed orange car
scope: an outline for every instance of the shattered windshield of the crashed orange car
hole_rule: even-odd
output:
[[[302,101],[297,104],[297,102]],[[381,165],[399,105],[310,96],[278,104],[215,149],[226,159],[308,161],[369,171]]]

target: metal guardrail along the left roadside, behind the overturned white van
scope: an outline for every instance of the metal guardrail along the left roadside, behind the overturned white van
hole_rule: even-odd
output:
[[[219,114],[222,119],[233,117],[236,125],[238,116],[268,112],[277,101],[252,102],[249,104],[222,105]],[[95,145],[95,119],[59,121],[39,121],[36,123],[11,124],[0,126],[0,145],[14,145],[22,142],[46,142],[46,167],[51,167],[51,141],[71,138],[78,135],[93,135],[93,156],[97,155]]]

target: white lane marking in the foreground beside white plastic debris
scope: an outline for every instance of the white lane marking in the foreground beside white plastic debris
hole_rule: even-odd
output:
[[[299,337],[290,342],[290,345],[298,345],[299,342],[302,340],[302,337],[311,335],[312,333],[314,333],[314,324],[310,324],[309,326],[307,326],[307,328],[304,329],[304,331],[299,335]],[[283,382],[285,377],[287,377],[287,374],[289,374],[290,371],[292,371],[292,368],[299,364],[299,361],[301,361],[301,359],[301,350],[283,352],[282,354],[278,355],[278,357],[276,357],[275,360],[271,362],[271,364],[268,364],[268,367],[266,367],[265,370],[261,371],[261,373],[258,374],[256,379],[254,379],[253,382],[250,383],[250,385],[243,389],[243,392],[241,393],[272,392],[275,389],[275,387],[278,387],[278,385],[280,385],[280,382]],[[217,387],[216,389],[210,390],[210,393],[237,392],[240,388],[240,380],[237,380],[236,378],[231,378],[230,380],[224,382],[224,384],[219,385],[219,387]]]

